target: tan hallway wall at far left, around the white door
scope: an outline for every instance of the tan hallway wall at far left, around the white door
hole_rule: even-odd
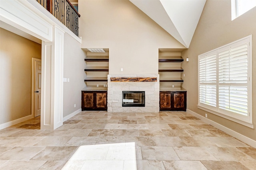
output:
[[[0,28],[0,124],[32,114],[32,58],[40,44]]]

